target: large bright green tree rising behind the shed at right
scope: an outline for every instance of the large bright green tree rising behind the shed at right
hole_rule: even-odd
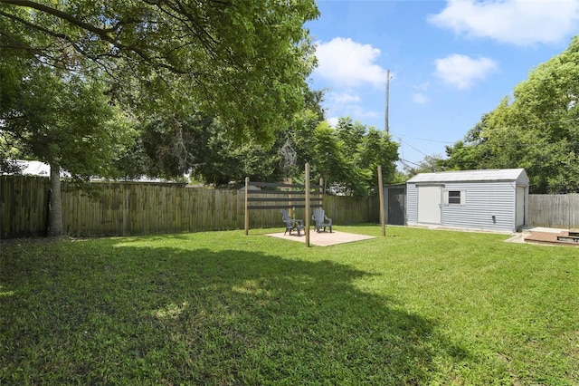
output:
[[[579,37],[447,148],[450,169],[525,168],[536,193],[579,191]]]

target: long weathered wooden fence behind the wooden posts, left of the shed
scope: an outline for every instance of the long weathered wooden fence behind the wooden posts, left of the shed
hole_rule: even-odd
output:
[[[69,236],[125,236],[243,229],[243,190],[171,184],[92,183],[94,195],[62,183],[62,224]],[[0,176],[0,236],[44,236],[49,179]],[[260,194],[252,194],[260,198]],[[261,198],[268,198],[262,195]],[[337,226],[377,222],[377,198],[324,196]],[[297,209],[300,210],[300,209]],[[253,210],[250,225],[284,227],[279,209]]]

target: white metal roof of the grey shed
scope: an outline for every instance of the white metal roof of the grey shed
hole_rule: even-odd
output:
[[[407,182],[415,184],[421,182],[516,181],[521,175],[524,175],[524,179],[528,181],[525,169],[480,169],[421,173]]]

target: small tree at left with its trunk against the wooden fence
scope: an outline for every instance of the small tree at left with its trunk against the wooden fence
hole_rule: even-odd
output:
[[[128,144],[130,126],[108,103],[102,82],[60,72],[31,56],[0,55],[0,82],[0,158],[17,149],[50,164],[49,234],[59,236],[62,169],[77,179],[114,174],[111,160]]]

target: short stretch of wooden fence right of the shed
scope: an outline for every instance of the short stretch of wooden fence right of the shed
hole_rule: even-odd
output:
[[[579,194],[528,196],[531,227],[579,228]]]

